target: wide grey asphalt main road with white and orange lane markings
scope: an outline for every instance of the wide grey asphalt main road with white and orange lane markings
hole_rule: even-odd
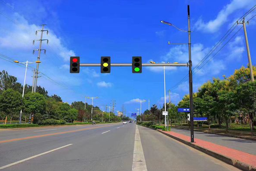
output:
[[[0,170],[238,171],[135,123],[77,127],[0,131]]]

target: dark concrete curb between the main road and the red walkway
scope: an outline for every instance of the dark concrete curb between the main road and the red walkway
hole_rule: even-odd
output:
[[[175,137],[173,135],[170,135],[170,134],[167,134],[165,132],[162,132],[162,130],[160,130],[160,129],[158,129],[157,131],[161,132],[162,134],[167,135],[167,136],[169,136],[169,137],[171,137],[173,139],[176,139],[177,141],[180,141],[180,142],[182,142],[182,143],[184,143],[186,145],[189,145],[190,147],[193,147],[193,148],[195,148],[195,149],[197,149],[199,151],[202,151],[202,152],[206,153],[207,155],[210,155],[210,156],[212,156],[214,158],[217,158],[217,159],[219,159],[221,161],[224,161],[227,164],[233,165],[236,168],[239,168],[239,169],[241,169],[243,171],[256,171],[256,168],[251,166],[251,165],[249,165],[249,164],[243,163],[243,162],[238,161],[238,160],[233,159],[233,158],[228,158],[228,157],[226,157],[224,155],[220,155],[220,154],[218,154],[218,153],[216,153],[214,151],[207,150],[206,148],[202,148],[202,147],[200,147],[198,145],[195,145],[195,144],[190,143],[188,141],[185,141],[183,139],[177,138],[177,137]]]

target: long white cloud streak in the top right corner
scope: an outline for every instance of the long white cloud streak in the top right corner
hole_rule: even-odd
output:
[[[215,33],[219,30],[220,26],[225,24],[228,20],[228,16],[237,10],[248,9],[255,5],[255,0],[232,0],[229,4],[223,7],[219,11],[214,20],[204,22],[202,19],[197,20],[195,28],[202,30],[203,32]]]

